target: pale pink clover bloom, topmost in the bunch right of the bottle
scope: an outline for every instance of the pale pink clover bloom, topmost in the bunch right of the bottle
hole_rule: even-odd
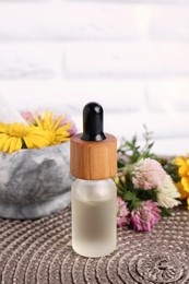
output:
[[[161,187],[166,178],[162,165],[152,158],[139,161],[132,171],[132,182],[135,188],[152,189]]]

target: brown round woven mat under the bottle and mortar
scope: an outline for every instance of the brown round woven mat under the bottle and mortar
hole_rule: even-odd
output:
[[[87,259],[71,248],[70,208],[36,221],[0,220],[0,283],[189,283],[189,212],[152,233],[118,229],[117,250]]]

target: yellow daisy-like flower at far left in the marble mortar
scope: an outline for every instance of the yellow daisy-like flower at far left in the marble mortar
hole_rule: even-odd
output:
[[[47,133],[39,127],[24,123],[0,123],[0,151],[13,153],[22,147],[44,147],[49,144]]]

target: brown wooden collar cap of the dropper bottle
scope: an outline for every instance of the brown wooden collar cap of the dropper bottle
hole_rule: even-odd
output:
[[[81,137],[82,133],[70,140],[71,175],[86,180],[101,180],[116,176],[116,138],[105,133],[105,140],[84,141]]]

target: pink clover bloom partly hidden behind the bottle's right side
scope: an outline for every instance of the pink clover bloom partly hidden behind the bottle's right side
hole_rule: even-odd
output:
[[[130,211],[127,208],[127,203],[120,198],[117,197],[117,226],[122,227],[130,223]]]

